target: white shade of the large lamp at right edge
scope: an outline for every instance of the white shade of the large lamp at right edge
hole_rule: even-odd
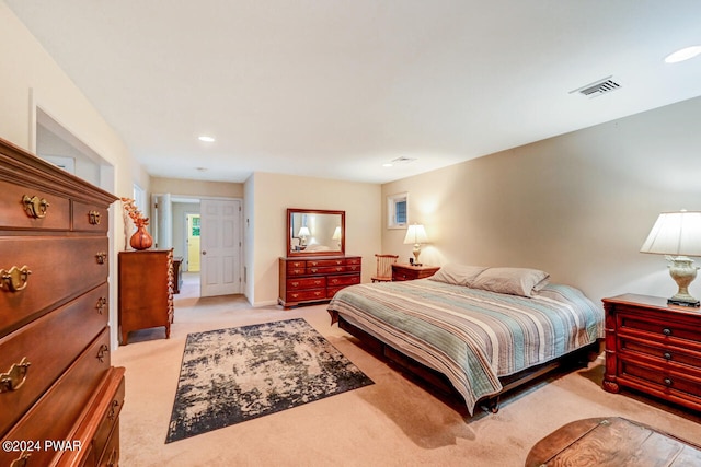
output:
[[[663,212],[640,250],[658,255],[701,256],[701,212]]]

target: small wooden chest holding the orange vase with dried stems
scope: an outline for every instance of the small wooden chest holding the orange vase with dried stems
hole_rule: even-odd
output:
[[[119,252],[119,335],[164,327],[171,337],[173,323],[173,250]]]

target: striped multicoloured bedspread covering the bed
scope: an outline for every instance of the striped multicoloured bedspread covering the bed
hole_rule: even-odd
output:
[[[336,293],[327,310],[445,374],[470,413],[502,390],[499,376],[604,337],[604,311],[563,284],[531,299],[429,279],[359,284]]]

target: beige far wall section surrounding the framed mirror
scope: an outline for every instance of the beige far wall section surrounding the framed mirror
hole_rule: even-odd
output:
[[[250,302],[277,303],[278,258],[285,256],[287,245],[287,208],[346,211],[346,254],[363,256],[363,280],[370,280],[374,255],[380,249],[380,185],[266,173],[253,174],[245,185],[243,223],[250,255],[245,259]]]

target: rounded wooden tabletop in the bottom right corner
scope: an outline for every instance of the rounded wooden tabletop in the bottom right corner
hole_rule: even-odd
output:
[[[701,446],[619,417],[577,420],[539,441],[527,467],[701,465]]]

